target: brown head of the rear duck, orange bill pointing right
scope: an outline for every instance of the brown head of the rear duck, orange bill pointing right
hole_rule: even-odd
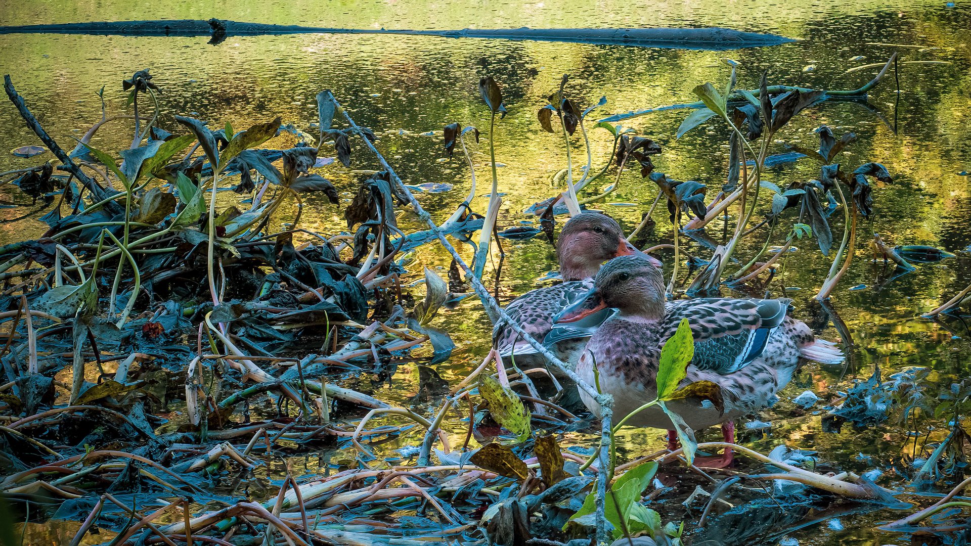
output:
[[[614,219],[594,212],[581,213],[566,222],[559,234],[556,254],[564,281],[593,277],[601,263],[617,256],[641,256],[655,267],[661,266],[661,262],[631,245]]]

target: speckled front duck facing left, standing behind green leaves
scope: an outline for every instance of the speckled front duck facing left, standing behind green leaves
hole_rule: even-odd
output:
[[[609,261],[584,300],[565,310],[570,321],[603,307],[619,312],[604,322],[586,344],[577,373],[593,384],[594,362],[602,392],[614,395],[617,419],[653,400],[664,342],[687,319],[694,336],[694,358],[683,383],[707,380],[720,387],[724,412],[686,398],[668,407],[700,429],[729,422],[772,405],[786,387],[800,357],[839,362],[842,353],[817,340],[810,328],[786,316],[785,299],[704,298],[664,303],[664,280],[653,265],[635,256]],[[599,405],[581,393],[595,414]],[[672,428],[652,407],[628,421],[641,427]]]

